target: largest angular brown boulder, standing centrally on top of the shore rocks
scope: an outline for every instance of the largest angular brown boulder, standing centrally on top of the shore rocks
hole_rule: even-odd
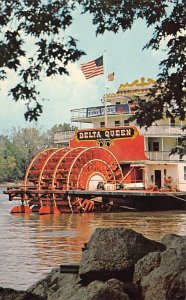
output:
[[[165,245],[126,228],[97,228],[82,253],[79,275],[84,282],[132,280],[135,263]]]

